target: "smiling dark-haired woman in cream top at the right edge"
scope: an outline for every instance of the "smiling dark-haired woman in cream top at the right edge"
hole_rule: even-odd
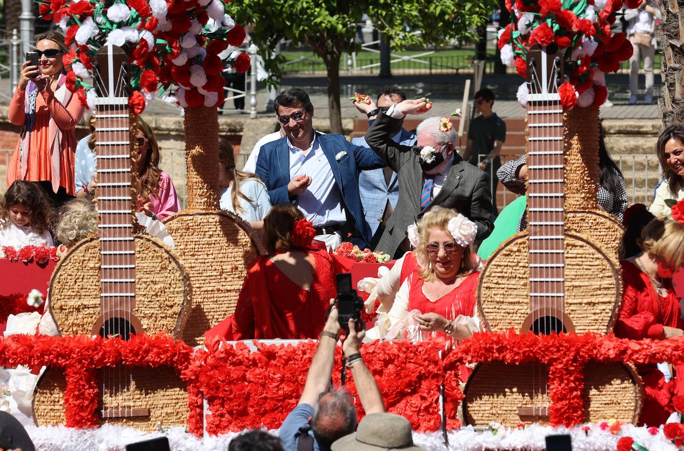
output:
[[[648,211],[655,216],[670,215],[666,200],[684,198],[684,125],[671,125],[660,134],[655,145],[663,182],[655,190]]]

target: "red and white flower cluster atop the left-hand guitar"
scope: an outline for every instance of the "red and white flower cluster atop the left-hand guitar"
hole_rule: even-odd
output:
[[[214,107],[224,99],[223,61],[238,72],[250,57],[235,51],[245,31],[226,14],[224,0],[35,0],[40,16],[57,23],[66,35],[66,85],[84,106],[94,109],[97,94],[86,79],[92,59],[103,45],[121,46],[129,55],[131,96],[135,114],[145,109],[157,87],[163,100],[181,107]]]

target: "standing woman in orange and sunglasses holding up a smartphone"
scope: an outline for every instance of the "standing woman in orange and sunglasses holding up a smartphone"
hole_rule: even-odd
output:
[[[60,206],[75,195],[75,127],[83,106],[66,88],[64,36],[57,31],[42,33],[36,37],[34,52],[38,66],[25,61],[10,102],[10,121],[22,128],[8,166],[7,184],[38,182],[55,206]]]

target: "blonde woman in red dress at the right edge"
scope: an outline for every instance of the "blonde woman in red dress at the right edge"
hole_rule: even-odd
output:
[[[672,207],[672,216],[651,220],[637,244],[642,251],[620,262],[624,285],[622,306],[615,325],[620,338],[663,340],[683,335],[679,299],[672,274],[684,263],[684,202]],[[637,366],[646,388],[639,424],[660,426],[672,413],[672,394],[684,394],[684,366],[674,368],[669,383],[655,364]]]

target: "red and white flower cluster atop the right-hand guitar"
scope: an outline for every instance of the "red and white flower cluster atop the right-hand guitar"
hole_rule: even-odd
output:
[[[565,81],[560,85],[562,105],[571,109],[599,107],[607,99],[605,73],[616,72],[633,53],[624,33],[611,36],[611,26],[622,0],[506,0],[511,23],[499,31],[501,62],[526,76],[527,51],[534,44],[556,44],[563,52]],[[627,0],[638,8],[641,0]],[[527,84],[518,89],[518,101],[527,105]]]

